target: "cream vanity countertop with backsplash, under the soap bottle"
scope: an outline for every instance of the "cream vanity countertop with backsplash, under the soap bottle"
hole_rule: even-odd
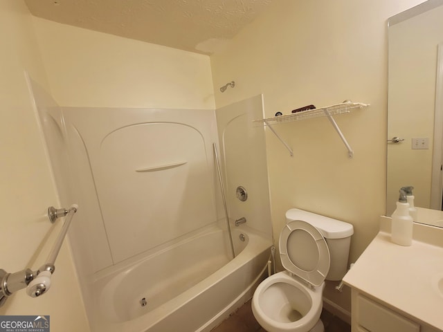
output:
[[[390,232],[386,232],[390,220],[381,222],[381,231],[343,282],[443,331],[443,289],[438,288],[443,278],[443,229],[425,230],[433,232],[434,238],[437,235],[433,244],[414,239],[406,247],[390,241]],[[414,237],[416,233],[422,236],[422,231],[422,225],[414,225]]]

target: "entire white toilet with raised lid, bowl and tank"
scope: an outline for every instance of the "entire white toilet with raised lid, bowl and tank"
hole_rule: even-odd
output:
[[[282,266],[258,285],[252,299],[257,322],[268,332],[324,332],[320,314],[325,279],[341,280],[354,228],[350,223],[290,209],[280,233]]]

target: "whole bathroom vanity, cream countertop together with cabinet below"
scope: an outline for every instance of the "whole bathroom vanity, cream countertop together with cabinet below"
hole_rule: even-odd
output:
[[[352,332],[443,332],[443,228],[414,223],[411,246],[390,237],[390,218],[343,277]]]

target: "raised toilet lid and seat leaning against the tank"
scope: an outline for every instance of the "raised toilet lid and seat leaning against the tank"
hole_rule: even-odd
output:
[[[293,220],[280,233],[283,267],[309,284],[320,286],[329,271],[331,259],[325,238],[313,225]]]

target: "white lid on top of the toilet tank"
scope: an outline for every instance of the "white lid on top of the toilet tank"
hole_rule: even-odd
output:
[[[299,209],[287,210],[286,221],[292,220],[302,220],[310,223],[320,230],[325,239],[343,239],[354,234],[354,227],[350,223]]]

